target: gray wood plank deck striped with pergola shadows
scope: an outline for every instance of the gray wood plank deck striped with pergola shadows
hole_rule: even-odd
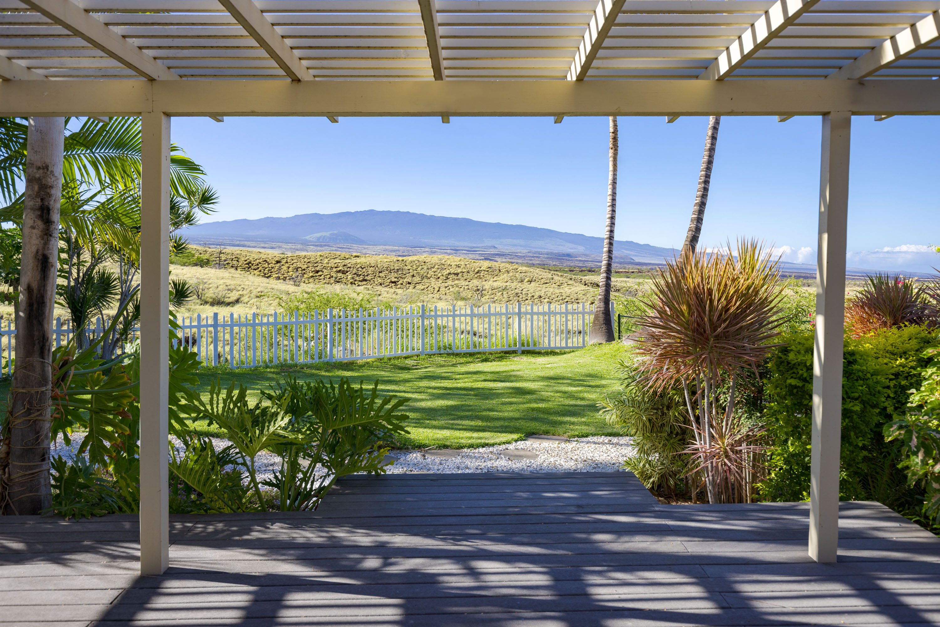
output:
[[[161,577],[133,516],[0,517],[0,623],[940,624],[940,539],[843,503],[815,564],[807,516],[659,505],[627,473],[357,476],[313,513],[172,517]]]

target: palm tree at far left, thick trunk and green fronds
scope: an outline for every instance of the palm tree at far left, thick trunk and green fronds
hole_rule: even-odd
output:
[[[16,367],[0,433],[0,508],[8,513],[37,514],[51,505],[50,355],[60,238],[70,251],[75,244],[95,257],[118,255],[128,261],[121,267],[134,272],[139,256],[140,120],[89,118],[71,132],[70,121],[0,118],[0,197],[9,203],[0,209],[0,222],[23,232]],[[196,211],[211,211],[215,195],[203,175],[173,148],[175,226],[193,223]],[[71,272],[70,265],[70,281]],[[97,306],[73,291],[66,296],[79,318],[86,308],[79,305]]]

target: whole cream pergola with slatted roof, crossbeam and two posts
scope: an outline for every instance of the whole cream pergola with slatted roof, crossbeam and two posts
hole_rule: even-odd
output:
[[[940,114],[940,0],[0,0],[0,9],[0,115],[143,118],[142,573],[168,565],[174,116],[822,117],[809,555],[836,561],[852,116]]]

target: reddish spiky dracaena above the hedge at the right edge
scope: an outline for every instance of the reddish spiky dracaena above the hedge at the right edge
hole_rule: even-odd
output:
[[[845,304],[845,321],[854,337],[905,324],[935,323],[935,286],[917,285],[900,274],[866,278],[868,284]]]

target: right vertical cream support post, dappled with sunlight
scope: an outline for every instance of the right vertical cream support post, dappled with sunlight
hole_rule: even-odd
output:
[[[823,116],[809,480],[809,556],[818,562],[835,562],[838,553],[838,462],[842,433],[851,131],[851,112],[834,111]]]

